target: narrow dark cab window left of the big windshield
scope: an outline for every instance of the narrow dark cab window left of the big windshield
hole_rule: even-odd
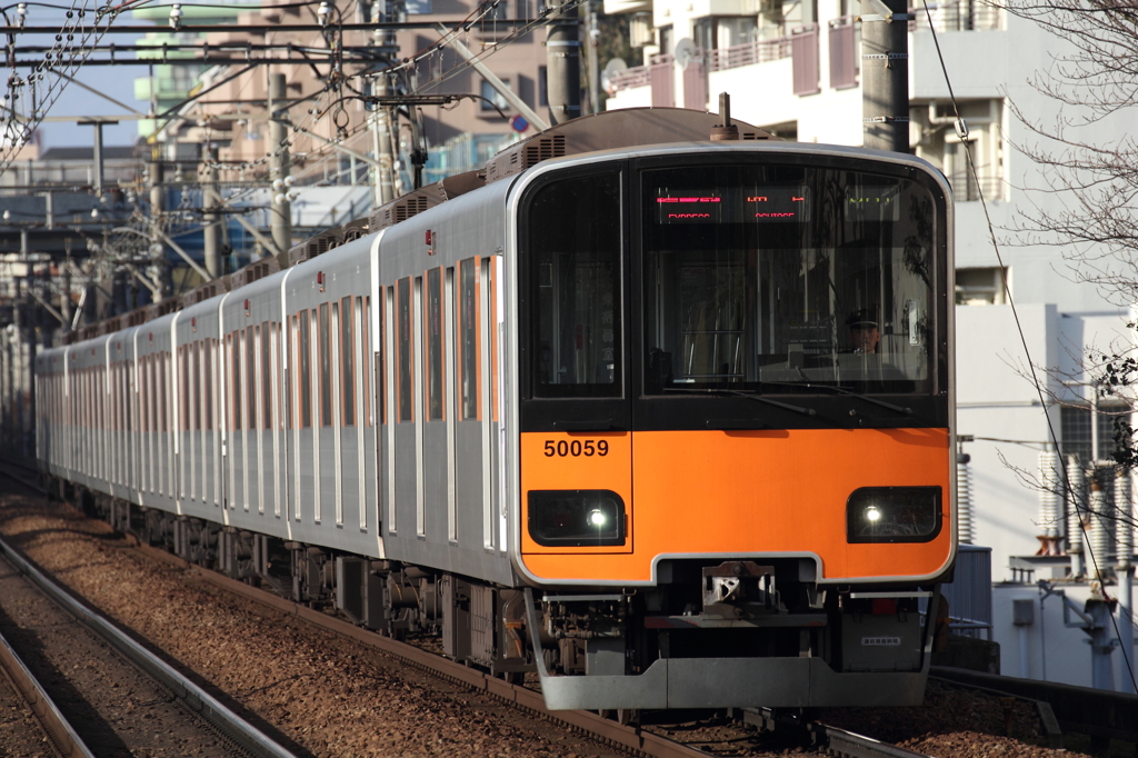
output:
[[[534,397],[621,393],[620,173],[562,179],[529,200]]]

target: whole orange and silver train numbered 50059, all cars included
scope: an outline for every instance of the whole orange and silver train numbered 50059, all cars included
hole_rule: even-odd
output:
[[[921,702],[949,188],[714,125],[569,122],[41,353],[46,476],[551,708]]]

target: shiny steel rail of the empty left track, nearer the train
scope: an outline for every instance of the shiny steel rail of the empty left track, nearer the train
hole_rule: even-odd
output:
[[[8,476],[18,478],[10,472]],[[34,485],[28,486],[35,487]],[[39,487],[35,488],[40,489]],[[0,553],[25,574],[44,594],[64,608],[64,610],[106,640],[116,650],[122,652],[127,660],[167,686],[175,695],[184,700],[195,711],[221,730],[241,748],[254,756],[263,756],[265,758],[296,758],[294,752],[278,744],[270,736],[222,705],[221,701],[208,692],[179,674],[168,664],[119,632],[117,627],[99,613],[96,613],[72,598],[69,593],[49,579],[3,538],[0,538]]]

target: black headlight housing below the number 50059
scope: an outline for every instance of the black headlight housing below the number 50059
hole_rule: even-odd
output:
[[[529,536],[544,547],[625,544],[625,501],[609,489],[534,489]]]

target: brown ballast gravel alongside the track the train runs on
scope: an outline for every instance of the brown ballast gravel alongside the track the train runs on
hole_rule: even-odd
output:
[[[0,494],[0,534],[172,662],[229,693],[269,730],[308,755],[622,755],[494,698],[236,599],[192,574],[142,559],[108,525],[65,505]],[[999,698],[935,681],[930,682],[922,707],[826,709],[819,720],[937,758],[1079,755],[1042,747],[1045,734],[1029,705],[1012,706],[1009,720]],[[708,755],[809,753],[721,718],[646,728]]]

